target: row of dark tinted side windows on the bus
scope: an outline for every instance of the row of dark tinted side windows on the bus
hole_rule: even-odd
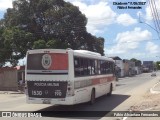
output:
[[[113,73],[113,62],[83,57],[74,58],[75,77]]]

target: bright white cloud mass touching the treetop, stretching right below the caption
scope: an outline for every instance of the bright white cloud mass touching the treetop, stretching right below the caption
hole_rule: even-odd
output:
[[[66,0],[78,6],[80,11],[88,19],[87,31],[92,34],[103,33],[106,26],[118,23],[129,26],[137,23],[137,20],[129,14],[117,14],[109,6],[110,0]],[[112,1],[113,2],[113,1]]]

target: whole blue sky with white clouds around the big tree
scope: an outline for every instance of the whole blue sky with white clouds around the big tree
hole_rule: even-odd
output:
[[[149,0],[65,0],[79,7],[88,19],[87,31],[105,39],[104,51],[108,57],[136,58],[141,61],[160,61],[160,34],[153,24]],[[117,3],[127,9],[119,9]],[[139,5],[131,5],[139,2]],[[146,2],[142,5],[142,2]],[[155,0],[160,15],[160,0]],[[140,7],[129,9],[128,7]],[[0,18],[12,0],[0,0]],[[140,21],[142,23],[140,23]]]

